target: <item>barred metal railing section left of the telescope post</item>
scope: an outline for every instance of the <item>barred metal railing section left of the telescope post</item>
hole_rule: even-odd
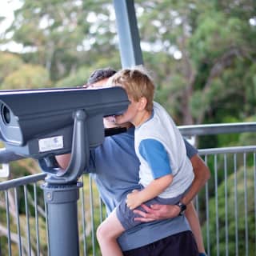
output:
[[[42,196],[38,198],[37,184],[45,177],[46,174],[34,174],[0,183],[0,255],[34,255],[35,252],[41,255],[40,238],[47,238],[47,230],[41,229],[46,234],[39,235],[39,225],[46,227],[46,214],[44,207],[38,204]]]

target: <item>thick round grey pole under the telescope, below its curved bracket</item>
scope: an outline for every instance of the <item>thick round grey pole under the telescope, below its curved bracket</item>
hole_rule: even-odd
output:
[[[50,256],[78,256],[78,208],[79,188],[74,185],[42,186],[47,209]]]

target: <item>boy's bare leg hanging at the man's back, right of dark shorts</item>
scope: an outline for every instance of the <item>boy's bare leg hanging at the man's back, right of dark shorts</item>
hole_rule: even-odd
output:
[[[192,202],[190,202],[190,204],[187,205],[185,215],[188,222],[190,223],[190,227],[191,227],[192,233],[194,234],[195,241],[197,242],[198,251],[200,253],[205,253],[206,251],[203,245],[202,231],[201,231],[201,226],[198,220],[198,214],[194,209],[194,204]]]

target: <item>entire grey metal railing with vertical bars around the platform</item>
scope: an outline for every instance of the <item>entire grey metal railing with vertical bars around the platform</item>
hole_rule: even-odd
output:
[[[180,129],[189,135],[255,132],[256,124]],[[208,255],[255,254],[255,153],[256,146],[246,145],[199,150],[212,173],[194,201]],[[45,177],[46,174],[34,174],[0,183],[0,255],[49,254],[47,210],[40,189]],[[82,182],[78,200],[80,255],[100,255],[95,230],[106,211],[92,178],[84,175]]]

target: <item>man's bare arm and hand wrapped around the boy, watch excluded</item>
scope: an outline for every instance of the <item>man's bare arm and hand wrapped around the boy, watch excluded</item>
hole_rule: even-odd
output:
[[[194,170],[194,181],[190,186],[190,190],[181,199],[181,202],[185,205],[188,205],[192,201],[194,196],[198,194],[198,191],[202,189],[202,186],[205,186],[207,180],[210,178],[210,170],[198,154],[195,154],[190,158],[190,161]],[[176,205],[152,205],[150,207],[142,205],[142,207],[146,212],[134,210],[134,213],[142,216],[141,218],[138,217],[134,220],[151,222],[165,218],[174,218],[180,213],[180,208]]]

